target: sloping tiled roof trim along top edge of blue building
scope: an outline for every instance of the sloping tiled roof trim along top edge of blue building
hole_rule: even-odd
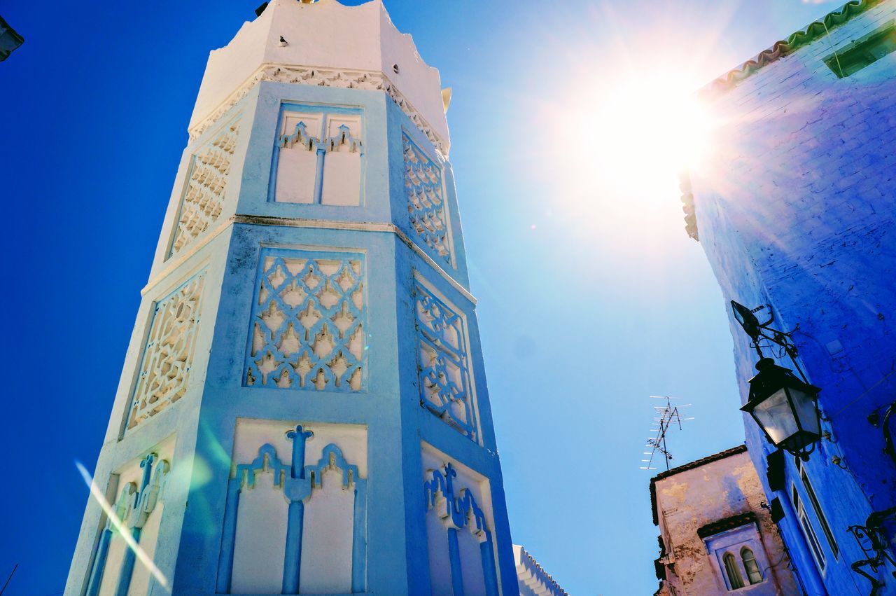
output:
[[[793,54],[797,49],[812,43],[816,39],[826,35],[828,31],[840,27],[845,22],[858,14],[865,13],[868,9],[874,8],[877,4],[881,4],[883,0],[851,0],[847,4],[843,4],[839,10],[833,11],[825,15],[820,21],[810,23],[805,29],[798,30],[788,37],[776,41],[771,48],[759,53],[751,60],[747,60],[744,64],[737,66],[728,73],[723,74],[715,81],[708,84],[702,91],[724,92],[734,87],[738,82],[743,81],[751,74],[758,71],[762,66],[771,64],[775,60]]]

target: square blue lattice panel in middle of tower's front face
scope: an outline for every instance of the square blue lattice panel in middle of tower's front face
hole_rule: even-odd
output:
[[[244,383],[362,391],[365,276],[358,253],[263,248]]]

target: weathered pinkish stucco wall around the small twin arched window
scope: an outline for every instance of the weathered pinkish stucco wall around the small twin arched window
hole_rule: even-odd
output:
[[[728,592],[716,554],[711,552],[707,542],[724,531],[702,538],[698,530],[748,513],[755,515],[756,523],[737,527],[742,529],[744,540],[753,538],[761,545],[762,551],[754,543],[751,548],[760,562],[763,581],[746,585],[741,591],[751,594],[797,593],[797,583],[788,569],[788,558],[778,529],[771,521],[769,511],[761,505],[765,500],[762,484],[743,447],[660,474],[653,481],[653,493],[660,537],[670,564],[667,566],[667,582],[677,594]],[[738,554],[737,549],[733,552]]]

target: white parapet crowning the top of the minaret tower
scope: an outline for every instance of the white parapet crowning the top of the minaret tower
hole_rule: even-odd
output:
[[[386,91],[447,152],[448,124],[437,69],[395,29],[382,0],[272,0],[209,56],[189,130],[211,122],[263,80]]]

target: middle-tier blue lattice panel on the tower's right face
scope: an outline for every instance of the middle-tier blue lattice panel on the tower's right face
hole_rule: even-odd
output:
[[[420,397],[426,408],[477,440],[464,316],[415,280]]]

